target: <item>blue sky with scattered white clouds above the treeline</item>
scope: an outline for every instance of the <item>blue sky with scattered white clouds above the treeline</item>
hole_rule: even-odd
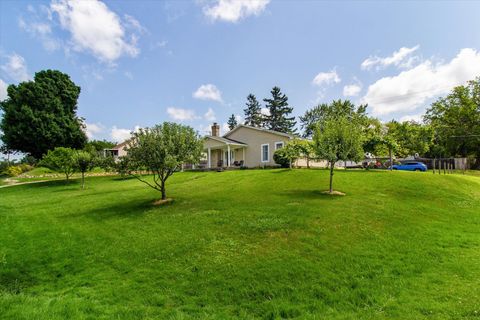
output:
[[[369,103],[419,119],[480,76],[480,2],[0,1],[5,87],[58,69],[82,88],[92,138],[163,121],[205,134],[246,96],[277,85],[296,116],[319,102]]]

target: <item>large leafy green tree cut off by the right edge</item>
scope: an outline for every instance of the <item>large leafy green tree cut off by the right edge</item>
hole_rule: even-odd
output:
[[[425,120],[434,134],[433,156],[480,157],[480,78],[432,103]]]

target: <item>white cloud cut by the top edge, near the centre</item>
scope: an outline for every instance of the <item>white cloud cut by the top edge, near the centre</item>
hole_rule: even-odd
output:
[[[270,0],[215,0],[213,5],[205,5],[203,13],[210,20],[238,22],[248,16],[260,15]]]

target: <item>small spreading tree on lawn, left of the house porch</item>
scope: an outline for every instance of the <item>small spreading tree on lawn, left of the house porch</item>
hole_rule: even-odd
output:
[[[131,172],[135,178],[162,193],[167,194],[165,182],[182,164],[200,161],[203,142],[189,126],[164,122],[153,128],[140,129],[132,134],[127,145],[127,163],[132,170],[147,170],[153,174],[153,183],[143,175]]]

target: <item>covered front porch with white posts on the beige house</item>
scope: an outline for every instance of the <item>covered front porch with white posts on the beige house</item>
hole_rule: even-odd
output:
[[[209,136],[204,142],[207,168],[239,168],[245,166],[247,145],[223,137]]]

